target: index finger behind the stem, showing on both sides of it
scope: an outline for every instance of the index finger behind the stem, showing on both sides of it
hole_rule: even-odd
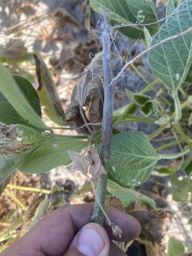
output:
[[[114,207],[107,207],[106,212],[111,222],[122,230],[120,241],[130,241],[140,233],[140,224],[132,216],[121,212]],[[93,204],[81,204],[60,207],[52,214],[41,220],[30,232],[14,246],[18,254],[34,256],[34,251],[44,255],[62,255],[71,243],[75,234],[87,223],[93,213]],[[118,240],[112,235],[110,227],[105,226],[109,238]],[[10,251],[12,249],[9,248]],[[4,254],[4,256],[10,255]],[[40,254],[38,255],[40,256]]]

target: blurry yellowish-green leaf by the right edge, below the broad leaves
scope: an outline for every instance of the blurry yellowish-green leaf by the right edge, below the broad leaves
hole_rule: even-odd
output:
[[[175,189],[173,190],[172,198],[175,201],[185,202],[188,200],[189,192],[191,190],[191,180],[189,177],[183,177],[180,181],[178,177],[173,176],[170,180]]]

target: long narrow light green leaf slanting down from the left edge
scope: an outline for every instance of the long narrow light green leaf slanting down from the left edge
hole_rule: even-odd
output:
[[[9,101],[18,114],[34,127],[48,129],[46,124],[31,107],[12,75],[0,63],[0,92]]]

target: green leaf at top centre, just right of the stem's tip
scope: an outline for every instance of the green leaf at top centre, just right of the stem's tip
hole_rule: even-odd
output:
[[[136,18],[130,11],[126,0],[89,0],[91,7],[96,11],[102,14],[99,10],[102,8],[106,12],[114,12],[114,14],[108,14],[108,19],[110,24],[131,24],[131,26],[123,27],[118,29],[120,33],[124,34],[127,37],[138,39],[144,38],[144,30],[142,27],[138,26],[136,23]]]

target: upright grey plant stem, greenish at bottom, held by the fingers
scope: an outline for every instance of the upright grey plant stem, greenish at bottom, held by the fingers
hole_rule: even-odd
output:
[[[103,11],[103,10],[102,10]],[[106,13],[104,14],[104,22],[102,24],[103,32],[101,35],[101,41],[103,44],[103,71],[104,71],[104,106],[103,106],[103,120],[102,120],[102,140],[100,147],[100,159],[105,171],[108,171],[108,162],[110,158],[110,147],[112,137],[112,125],[113,125],[113,106],[115,100],[114,88],[111,85],[112,71],[111,71],[111,56],[110,56],[110,28]],[[103,225],[105,216],[99,204],[105,208],[105,197],[107,190],[107,174],[102,174],[98,179],[98,185],[96,190],[96,198],[93,215],[91,221]],[[98,202],[99,204],[98,204]]]

